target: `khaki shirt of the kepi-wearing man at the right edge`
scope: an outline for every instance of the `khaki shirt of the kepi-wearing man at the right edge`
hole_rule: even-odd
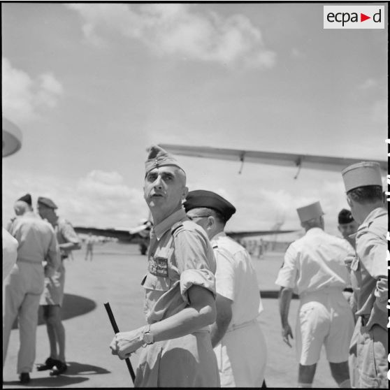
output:
[[[376,208],[356,232],[356,257],[351,263],[356,315],[373,316],[387,329],[387,210]]]

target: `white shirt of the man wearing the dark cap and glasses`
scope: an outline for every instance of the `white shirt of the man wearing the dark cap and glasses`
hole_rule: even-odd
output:
[[[229,328],[256,319],[263,305],[250,254],[224,232],[214,236],[211,244],[217,261],[217,294],[233,301]]]

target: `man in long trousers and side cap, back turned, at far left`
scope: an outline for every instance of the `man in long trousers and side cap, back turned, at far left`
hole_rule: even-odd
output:
[[[23,197],[22,197],[23,198]],[[3,296],[3,366],[13,322],[19,322],[20,349],[17,373],[20,382],[28,383],[36,355],[36,326],[39,298],[45,276],[53,275],[59,266],[59,250],[55,231],[31,208],[31,196],[18,199],[21,214],[9,226],[18,242],[17,260],[4,280]],[[43,262],[46,262],[45,267]]]

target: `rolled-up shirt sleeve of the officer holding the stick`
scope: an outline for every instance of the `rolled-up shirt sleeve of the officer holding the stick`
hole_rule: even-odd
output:
[[[208,255],[214,257],[211,247],[193,231],[181,231],[175,236],[175,258],[180,272],[180,293],[188,302],[188,289],[196,284],[216,296],[215,275],[212,273]]]

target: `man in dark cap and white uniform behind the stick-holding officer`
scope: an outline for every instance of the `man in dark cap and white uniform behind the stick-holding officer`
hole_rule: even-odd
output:
[[[250,254],[224,233],[236,208],[215,192],[189,192],[187,217],[208,234],[217,261],[217,319],[211,343],[221,387],[261,387],[266,369],[266,341],[257,322],[262,310],[259,282]]]

